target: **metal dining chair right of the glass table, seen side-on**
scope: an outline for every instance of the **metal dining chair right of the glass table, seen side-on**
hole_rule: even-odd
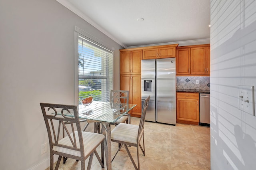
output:
[[[146,155],[145,154],[145,143],[144,143],[144,123],[145,123],[145,117],[146,117],[146,111],[148,108],[149,99],[150,99],[150,96],[148,96],[144,101],[139,125],[120,123],[111,131],[111,141],[117,142],[118,144],[120,144],[120,147],[118,148],[116,154],[124,145],[128,155],[132,161],[132,164],[136,170],[140,170],[139,148],[142,150],[144,156]],[[140,144],[141,140],[143,141],[143,148]],[[128,149],[128,146],[135,146],[137,148],[138,166],[136,166],[136,163],[134,162],[134,159],[132,158],[132,155]],[[116,154],[113,157],[112,161],[116,157]]]

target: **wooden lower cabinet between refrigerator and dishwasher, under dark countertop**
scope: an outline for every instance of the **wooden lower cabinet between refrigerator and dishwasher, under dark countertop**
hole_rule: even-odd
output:
[[[199,124],[199,93],[176,93],[177,123]]]

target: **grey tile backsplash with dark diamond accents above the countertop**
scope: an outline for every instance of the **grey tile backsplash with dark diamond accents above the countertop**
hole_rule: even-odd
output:
[[[199,84],[196,84],[196,80]],[[210,90],[210,77],[204,76],[177,76],[176,89]]]

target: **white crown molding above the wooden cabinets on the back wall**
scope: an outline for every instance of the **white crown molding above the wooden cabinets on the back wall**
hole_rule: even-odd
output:
[[[208,44],[210,43],[210,38],[207,39],[200,39],[200,40],[188,40],[188,41],[180,41],[180,42],[168,42],[168,43],[156,43],[156,44],[149,44],[149,45],[137,45],[137,46],[130,46],[127,48],[136,48],[136,47],[149,47],[149,46],[158,46],[158,45],[169,45],[169,44],[179,44],[178,46],[187,46],[187,45],[201,45],[201,44]]]

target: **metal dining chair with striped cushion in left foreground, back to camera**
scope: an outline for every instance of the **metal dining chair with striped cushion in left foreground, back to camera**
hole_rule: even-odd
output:
[[[50,170],[54,166],[54,154],[59,155],[55,169],[58,169],[62,156],[81,161],[81,169],[85,169],[85,160],[90,156],[87,170],[91,168],[92,158],[96,155],[104,168],[104,139],[103,134],[84,132],[81,130],[78,111],[73,105],[40,103],[48,132],[50,144]],[[67,116],[69,115],[70,116]],[[72,116],[71,116],[72,114]],[[69,122],[69,124],[65,124]],[[61,138],[62,127],[67,134]],[[96,148],[101,144],[101,158]]]

